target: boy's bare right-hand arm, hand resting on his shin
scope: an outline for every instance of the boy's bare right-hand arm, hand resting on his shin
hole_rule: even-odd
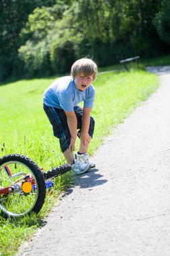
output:
[[[90,142],[89,124],[90,124],[91,108],[83,108],[82,127],[81,127],[81,142],[86,145]]]

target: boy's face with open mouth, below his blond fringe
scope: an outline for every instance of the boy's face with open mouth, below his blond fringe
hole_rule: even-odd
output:
[[[77,89],[83,92],[90,86],[91,82],[93,82],[93,75],[85,77],[85,75],[81,73],[80,75],[77,75],[74,80]]]

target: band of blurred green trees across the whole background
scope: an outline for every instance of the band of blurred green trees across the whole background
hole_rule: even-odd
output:
[[[169,0],[2,0],[0,79],[69,72],[169,51]],[[19,15],[18,15],[19,13]]]

